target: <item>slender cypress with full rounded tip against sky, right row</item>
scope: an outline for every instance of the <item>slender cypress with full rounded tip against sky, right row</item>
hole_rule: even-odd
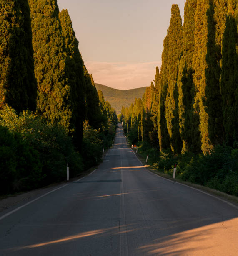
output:
[[[182,19],[178,5],[172,5],[170,26],[168,28],[169,51],[167,64],[168,92],[165,101],[165,118],[170,138],[172,137],[172,119],[174,118],[175,100],[173,97],[177,79],[177,66],[182,52]],[[173,145],[171,144],[173,151]]]

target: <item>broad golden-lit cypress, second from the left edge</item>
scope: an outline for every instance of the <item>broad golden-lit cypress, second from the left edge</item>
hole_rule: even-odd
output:
[[[33,32],[37,112],[69,128],[73,106],[66,79],[66,52],[56,0],[28,0]]]

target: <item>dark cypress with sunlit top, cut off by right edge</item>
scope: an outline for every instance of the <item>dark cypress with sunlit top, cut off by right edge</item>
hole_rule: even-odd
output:
[[[228,15],[222,41],[222,94],[225,141],[229,146],[238,145],[238,3],[229,0]]]

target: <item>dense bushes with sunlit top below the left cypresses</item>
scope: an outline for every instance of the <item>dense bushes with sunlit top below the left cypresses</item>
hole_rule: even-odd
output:
[[[4,126],[4,127],[3,127]],[[7,194],[59,182],[83,171],[72,138],[60,125],[12,108],[0,112],[0,193]]]

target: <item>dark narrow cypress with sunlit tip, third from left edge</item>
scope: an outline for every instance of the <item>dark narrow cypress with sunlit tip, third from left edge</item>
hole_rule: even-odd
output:
[[[62,36],[66,49],[66,76],[70,85],[70,101],[72,105],[72,117],[70,128],[73,130],[75,145],[80,147],[83,137],[83,121],[85,120],[85,78],[83,59],[78,49],[78,40],[72,27],[72,22],[67,10],[59,13]]]

